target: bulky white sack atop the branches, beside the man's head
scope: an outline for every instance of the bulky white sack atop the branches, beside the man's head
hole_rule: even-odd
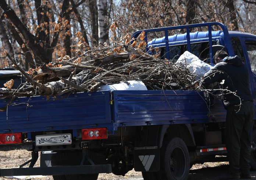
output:
[[[175,62],[176,65],[186,66],[188,71],[195,75],[195,80],[202,78],[213,66],[201,61],[197,56],[185,51]]]

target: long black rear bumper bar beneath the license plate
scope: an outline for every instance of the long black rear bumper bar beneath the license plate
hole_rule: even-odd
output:
[[[83,165],[83,166],[54,166],[36,168],[8,168],[0,169],[0,176],[26,175],[62,175],[62,174],[96,174],[111,173],[111,165]]]

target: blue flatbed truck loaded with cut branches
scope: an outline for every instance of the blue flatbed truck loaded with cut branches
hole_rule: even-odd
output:
[[[218,27],[220,30],[212,30]],[[193,29],[206,31],[190,32]],[[177,29],[185,33],[170,35]],[[175,61],[184,51],[214,64],[217,50],[239,55],[256,96],[256,36],[228,31],[219,22],[144,29],[146,52]],[[162,37],[148,42],[150,34]],[[0,100],[4,107],[8,99]],[[31,160],[0,176],[53,175],[55,180],[96,180],[99,173],[142,172],[145,180],[186,179],[195,163],[227,161],[222,101],[204,91],[117,90],[49,98],[16,98],[0,112],[0,144],[31,141]],[[256,168],[252,126],[252,168]],[[41,153],[51,164],[34,167]],[[29,164],[28,168],[24,168]],[[1,167],[0,167],[1,168]]]

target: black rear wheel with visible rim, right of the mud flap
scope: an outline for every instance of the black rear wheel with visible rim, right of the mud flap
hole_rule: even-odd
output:
[[[158,179],[184,180],[189,169],[189,152],[184,141],[179,137],[166,138],[161,148]]]

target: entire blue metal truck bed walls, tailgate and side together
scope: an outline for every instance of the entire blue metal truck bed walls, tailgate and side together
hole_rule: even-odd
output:
[[[7,103],[1,100],[0,106]],[[0,133],[93,126],[108,127],[114,133],[119,126],[223,122],[225,115],[220,100],[207,101],[198,91],[97,91],[49,100],[20,97],[0,112]]]

